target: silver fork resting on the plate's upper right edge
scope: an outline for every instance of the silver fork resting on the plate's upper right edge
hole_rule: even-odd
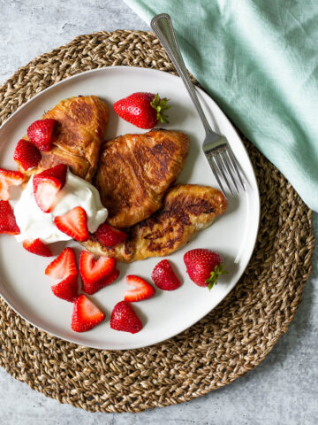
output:
[[[234,177],[235,175],[239,179],[239,183],[242,188],[246,190],[241,174],[239,173],[237,159],[231,150],[230,144],[226,140],[225,136],[218,135],[215,131],[212,130],[212,128],[210,128],[208,120],[202,111],[201,104],[193,86],[193,82],[190,79],[185,62],[178,48],[178,42],[170,16],[167,13],[156,15],[151,20],[150,26],[155,31],[155,35],[157,35],[160,42],[163,44],[164,49],[167,50],[173,65],[177,69],[178,74],[182,78],[182,81],[185,83],[186,89],[193,100],[193,104],[200,115],[202,124],[206,131],[206,137],[204,139],[202,148],[208,159],[208,164],[211,167],[211,170],[215,175],[216,181],[218,182],[220,189],[223,191],[224,196],[226,195],[225,190],[223,189],[222,181],[225,182],[232,196],[234,196],[234,194],[229,181],[232,182],[235,189],[239,193],[238,183]]]

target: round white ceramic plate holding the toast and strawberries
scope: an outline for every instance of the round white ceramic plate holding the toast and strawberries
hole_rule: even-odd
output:
[[[113,66],[80,73],[42,91],[15,112],[0,128],[0,166],[16,168],[12,159],[19,138],[27,127],[41,118],[61,99],[78,95],[96,95],[110,105],[110,122],[107,139],[125,133],[141,133],[143,130],[121,120],[111,105],[136,91],[160,93],[169,97],[170,124],[164,126],[181,130],[191,138],[186,166],[178,181],[217,187],[216,180],[201,151],[204,130],[182,81],[169,73],[156,70]],[[230,121],[217,104],[203,91],[198,94],[208,120],[217,132],[226,135],[239,159],[246,180],[246,192],[229,198],[228,212],[214,224],[199,232],[186,247],[170,255],[178,270],[182,286],[174,291],[156,290],[154,298],[134,303],[144,328],[137,334],[118,332],[110,328],[112,307],[123,299],[127,288],[126,274],[138,274],[148,281],[159,259],[146,259],[131,265],[119,264],[120,278],[91,298],[106,313],[106,320],[96,328],[76,333],[71,329],[72,304],[56,298],[50,290],[54,283],[45,276],[44,269],[51,259],[44,259],[25,251],[13,236],[0,236],[0,293],[11,307],[36,327],[65,340],[101,349],[131,349],[161,342],[175,336],[199,321],[216,307],[230,292],[243,274],[252,255],[259,226],[260,199],[254,170],[246,150]],[[12,198],[17,197],[16,193]],[[77,243],[69,243],[76,251]],[[54,245],[53,245],[54,246]],[[56,243],[59,253],[64,243]],[[183,255],[193,248],[208,248],[219,252],[229,270],[210,292],[196,286],[186,274]]]

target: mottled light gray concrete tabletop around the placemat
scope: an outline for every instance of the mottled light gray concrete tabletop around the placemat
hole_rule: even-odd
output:
[[[164,11],[163,11],[164,12]],[[117,28],[148,29],[121,0],[0,0],[0,83],[19,66],[80,34]],[[318,214],[314,214],[318,236]],[[0,421],[5,425],[318,423],[317,271],[289,332],[259,367],[190,403],[139,414],[87,413],[59,405],[0,369]]]

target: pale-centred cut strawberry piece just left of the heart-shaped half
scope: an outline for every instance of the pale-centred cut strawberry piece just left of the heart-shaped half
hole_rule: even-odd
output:
[[[57,259],[54,259],[45,269],[45,274],[53,279],[65,279],[72,275],[77,276],[76,259],[72,248],[65,248]]]

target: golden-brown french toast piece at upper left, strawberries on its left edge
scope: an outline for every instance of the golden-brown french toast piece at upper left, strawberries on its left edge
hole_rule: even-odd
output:
[[[52,148],[41,152],[37,167],[20,171],[29,177],[45,168],[66,164],[73,174],[91,182],[108,124],[107,104],[96,96],[70,97],[46,112],[42,119],[57,120]]]

